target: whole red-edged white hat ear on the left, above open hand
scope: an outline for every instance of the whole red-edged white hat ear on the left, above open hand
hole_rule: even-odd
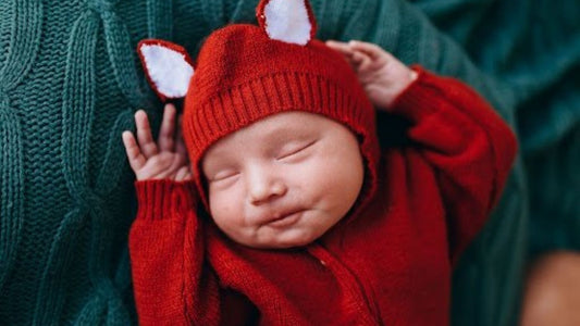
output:
[[[162,39],[144,39],[137,53],[147,80],[162,101],[185,97],[194,64],[183,47]]]

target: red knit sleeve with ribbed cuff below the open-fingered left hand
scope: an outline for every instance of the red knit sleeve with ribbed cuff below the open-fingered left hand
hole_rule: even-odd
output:
[[[205,263],[190,181],[135,184],[138,212],[129,252],[139,325],[217,325],[218,279]]]

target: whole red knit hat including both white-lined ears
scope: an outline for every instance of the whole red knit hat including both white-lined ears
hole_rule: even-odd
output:
[[[235,24],[212,33],[195,73],[183,48],[161,40],[139,43],[149,82],[160,97],[185,93],[183,135],[203,202],[200,161],[207,149],[285,111],[322,114],[348,126],[359,136],[368,173],[374,174],[369,166],[379,155],[374,109],[342,54],[312,39],[316,23],[308,1],[262,0],[257,17],[260,26]],[[177,63],[168,66],[171,55],[159,54],[160,49],[171,51]],[[185,86],[175,83],[189,77]]]

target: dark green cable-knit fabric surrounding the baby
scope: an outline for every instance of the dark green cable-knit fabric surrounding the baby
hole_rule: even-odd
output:
[[[195,53],[212,29],[252,21],[256,3],[0,1],[0,324],[135,323],[133,175],[121,133],[137,109],[156,122],[161,109],[135,45],[165,38]],[[572,237],[580,231],[580,7],[312,4],[319,38],[374,41],[405,62],[459,77],[518,130],[523,160],[456,271],[453,298],[454,324],[515,324],[528,247],[580,248]]]

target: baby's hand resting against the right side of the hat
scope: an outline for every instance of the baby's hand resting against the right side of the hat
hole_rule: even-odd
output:
[[[415,71],[377,45],[329,40],[326,46],[344,54],[371,102],[381,109],[387,110],[407,86],[417,79]]]

